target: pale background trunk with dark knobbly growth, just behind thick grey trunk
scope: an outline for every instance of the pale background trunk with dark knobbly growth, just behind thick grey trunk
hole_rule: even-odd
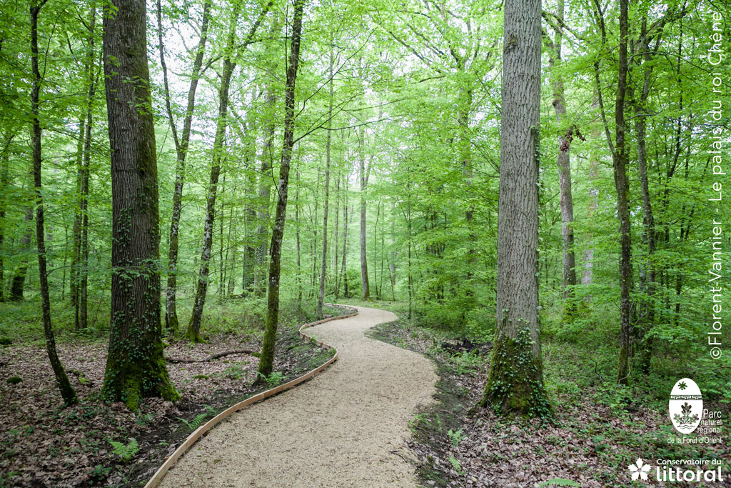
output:
[[[553,110],[556,113],[556,121],[559,129],[566,119],[566,98],[564,97],[564,79],[556,72],[561,64],[561,42],[563,40],[564,21],[564,0],[558,0],[556,17],[560,20],[556,28],[556,37],[553,40],[553,50],[549,56],[550,79],[553,89]],[[571,193],[571,158],[570,144],[572,128],[558,136],[558,189],[561,194],[561,240],[563,241],[563,264],[564,264],[564,299],[567,299],[565,307],[566,315],[572,315],[574,304],[572,298],[573,289],[576,285],[576,259],[574,256],[574,203]]]

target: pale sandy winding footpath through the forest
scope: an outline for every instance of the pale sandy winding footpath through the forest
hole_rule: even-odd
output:
[[[414,487],[404,440],[437,376],[425,357],[363,335],[393,313],[358,311],[307,329],[337,348],[333,366],[221,422],[160,486]]]

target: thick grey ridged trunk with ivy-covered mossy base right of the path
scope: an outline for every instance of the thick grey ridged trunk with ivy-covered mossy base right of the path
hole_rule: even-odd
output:
[[[548,417],[538,323],[540,0],[507,0],[498,211],[497,324],[481,405]]]

